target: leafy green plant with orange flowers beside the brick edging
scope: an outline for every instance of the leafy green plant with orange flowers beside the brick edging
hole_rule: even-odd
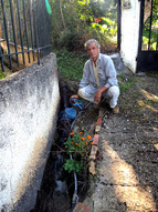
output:
[[[76,173],[81,172],[83,169],[88,166],[88,155],[91,147],[93,145],[92,137],[83,137],[83,132],[75,134],[72,132],[70,138],[64,143],[65,151],[71,158],[65,159],[63,168],[71,173],[75,171]]]

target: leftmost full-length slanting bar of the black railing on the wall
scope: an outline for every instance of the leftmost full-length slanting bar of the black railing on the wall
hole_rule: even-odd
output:
[[[10,69],[12,69],[12,59],[10,57],[10,46],[9,46],[9,37],[8,37],[8,29],[7,29],[7,18],[6,18],[6,12],[4,12],[3,0],[1,0],[1,6],[2,6],[2,14],[3,14],[3,23],[4,23],[4,32],[6,32],[7,46],[8,46],[8,54],[9,54]]]

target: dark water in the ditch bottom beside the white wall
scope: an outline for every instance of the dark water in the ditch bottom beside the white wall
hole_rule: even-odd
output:
[[[69,175],[63,170],[63,153],[53,145],[36,203],[31,212],[71,212],[71,198],[67,188]]]

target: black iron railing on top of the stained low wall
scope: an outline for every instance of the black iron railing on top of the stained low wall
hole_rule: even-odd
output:
[[[12,70],[51,52],[50,16],[45,0],[1,0],[0,62]]]

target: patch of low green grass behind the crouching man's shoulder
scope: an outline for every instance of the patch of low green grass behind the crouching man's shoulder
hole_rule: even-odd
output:
[[[59,71],[67,80],[80,81],[83,74],[83,67],[88,59],[87,53],[70,52],[67,50],[53,50],[57,59]]]

